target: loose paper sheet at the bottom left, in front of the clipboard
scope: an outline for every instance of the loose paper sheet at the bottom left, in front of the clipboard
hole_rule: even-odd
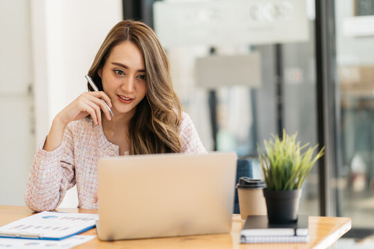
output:
[[[58,248],[69,249],[94,239],[94,235],[75,235],[62,241],[47,241],[36,239],[6,239],[0,238],[0,248],[25,249],[25,248]]]

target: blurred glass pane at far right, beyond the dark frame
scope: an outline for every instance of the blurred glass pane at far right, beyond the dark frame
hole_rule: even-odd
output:
[[[339,215],[353,237],[374,234],[374,1],[335,1],[341,165]]]

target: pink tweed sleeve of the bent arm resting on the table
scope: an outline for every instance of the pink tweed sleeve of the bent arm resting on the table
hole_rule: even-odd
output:
[[[25,192],[26,205],[36,212],[57,208],[66,191],[75,185],[71,124],[64,131],[60,147],[54,151],[45,151],[44,142],[35,154]]]

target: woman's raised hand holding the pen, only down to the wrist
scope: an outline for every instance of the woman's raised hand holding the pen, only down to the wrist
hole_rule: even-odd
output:
[[[111,120],[109,109],[105,106],[104,100],[109,107],[112,107],[110,98],[103,91],[82,93],[60,111],[56,118],[60,120],[62,124],[67,125],[71,121],[80,120],[81,118],[91,115],[94,124],[101,126],[101,110],[103,110],[107,120]]]

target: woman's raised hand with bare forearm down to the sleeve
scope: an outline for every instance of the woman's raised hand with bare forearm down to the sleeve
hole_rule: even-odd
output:
[[[52,127],[43,149],[53,151],[60,147],[65,127],[71,121],[80,120],[87,115],[91,115],[94,124],[101,126],[101,111],[103,111],[107,120],[111,120],[109,109],[105,105],[104,100],[109,107],[112,107],[112,101],[103,91],[86,92],[79,95],[53,119]]]

